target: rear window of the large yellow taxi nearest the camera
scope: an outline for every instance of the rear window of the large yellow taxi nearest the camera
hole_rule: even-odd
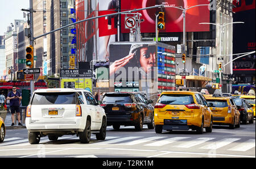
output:
[[[195,102],[192,95],[163,94],[161,95],[158,103],[187,105],[187,104],[193,104]]]

